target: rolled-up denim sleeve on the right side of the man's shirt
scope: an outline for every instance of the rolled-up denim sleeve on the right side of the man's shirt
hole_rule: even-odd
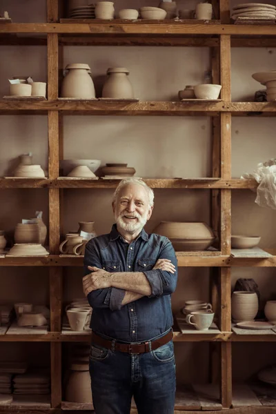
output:
[[[149,297],[159,297],[170,295],[177,287],[177,257],[175,249],[169,239],[166,239],[162,246],[158,259],[168,259],[175,265],[175,273],[170,273],[161,269],[146,270],[144,275],[148,279],[152,294]]]

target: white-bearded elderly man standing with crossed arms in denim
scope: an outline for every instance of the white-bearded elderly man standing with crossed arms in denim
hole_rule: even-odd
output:
[[[90,376],[97,414],[172,414],[175,357],[170,295],[177,259],[170,241],[144,230],[153,208],[144,181],[115,190],[116,224],[86,245],[83,291],[93,308]]]

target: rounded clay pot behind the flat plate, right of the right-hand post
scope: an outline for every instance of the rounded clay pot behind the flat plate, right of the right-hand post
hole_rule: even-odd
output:
[[[235,322],[253,321],[258,312],[258,297],[255,292],[233,292],[231,313]]]

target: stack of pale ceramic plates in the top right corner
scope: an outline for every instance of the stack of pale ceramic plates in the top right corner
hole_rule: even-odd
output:
[[[232,19],[246,20],[275,20],[276,7],[272,4],[242,3],[233,7]]]

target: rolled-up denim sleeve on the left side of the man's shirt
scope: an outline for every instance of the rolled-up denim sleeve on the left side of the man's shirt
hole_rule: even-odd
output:
[[[85,275],[91,273],[88,266],[96,266],[97,268],[103,267],[98,247],[93,239],[86,244],[83,265]],[[111,311],[119,311],[121,309],[121,302],[124,299],[125,294],[126,290],[118,288],[104,288],[92,290],[92,292],[88,293],[87,299],[92,308],[110,308]]]

